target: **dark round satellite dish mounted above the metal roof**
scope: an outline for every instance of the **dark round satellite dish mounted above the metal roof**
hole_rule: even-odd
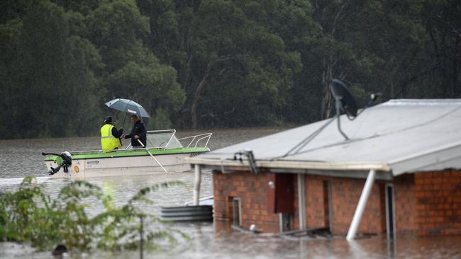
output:
[[[338,79],[333,79],[330,83],[330,91],[337,105],[340,104],[340,108],[345,111],[348,117],[357,117],[357,103],[348,86],[345,86],[345,84]]]

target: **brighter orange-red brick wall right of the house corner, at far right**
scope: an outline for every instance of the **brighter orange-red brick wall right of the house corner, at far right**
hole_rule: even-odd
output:
[[[418,236],[461,234],[461,171],[416,173]]]

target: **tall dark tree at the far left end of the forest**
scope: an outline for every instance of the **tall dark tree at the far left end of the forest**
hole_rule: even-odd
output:
[[[4,28],[11,47],[4,116],[15,118],[6,120],[4,136],[89,134],[99,115],[94,70],[101,67],[91,42],[70,35],[67,13],[50,1],[31,3],[21,21]]]

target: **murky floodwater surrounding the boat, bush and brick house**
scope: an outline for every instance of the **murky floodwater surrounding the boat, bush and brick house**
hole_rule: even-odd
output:
[[[212,130],[211,150],[236,144],[248,139],[273,134],[283,129]],[[179,137],[204,132],[178,132]],[[70,182],[52,179],[46,174],[41,152],[99,149],[98,137],[62,139],[0,140],[0,191],[18,187],[26,175],[35,175],[40,185],[52,197]],[[204,172],[201,197],[212,195],[212,176]],[[140,188],[171,180],[180,180],[185,186],[172,186],[158,190],[150,196],[154,205],[144,207],[145,212],[159,214],[161,206],[181,206],[192,198],[194,173],[168,173],[131,178],[88,178],[90,183],[111,190],[116,205],[123,205]],[[96,202],[95,202],[96,203]],[[89,208],[96,214],[101,207]],[[352,209],[352,208],[351,208]],[[385,236],[360,238],[353,242],[343,236],[277,236],[230,231],[222,224],[177,223],[191,241],[179,241],[170,251],[145,251],[144,258],[461,258],[461,237],[397,238],[387,241]],[[139,258],[139,251],[111,253],[94,251],[89,254],[70,254],[69,258]],[[52,258],[50,251],[35,252],[28,245],[0,243],[0,258]]]

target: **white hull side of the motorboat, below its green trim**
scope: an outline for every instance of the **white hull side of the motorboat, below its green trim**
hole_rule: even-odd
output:
[[[95,159],[72,159],[72,165],[68,166],[68,172],[64,168],[52,175],[53,178],[89,178],[104,176],[127,176],[127,175],[150,175],[158,173],[184,172],[191,169],[185,158],[194,156],[194,153],[164,154],[157,156],[128,156],[106,157]],[[157,160],[157,161],[156,161]],[[158,163],[157,163],[158,162]],[[165,168],[165,171],[159,165]],[[56,161],[45,161],[50,170],[56,168]]]

